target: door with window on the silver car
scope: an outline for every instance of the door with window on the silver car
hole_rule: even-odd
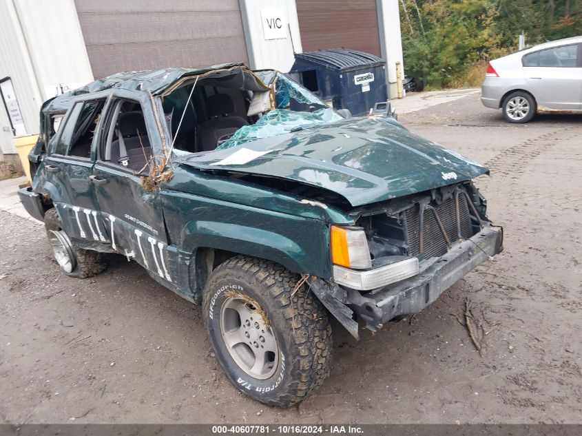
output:
[[[538,110],[582,110],[581,44],[531,52],[522,63]]]

